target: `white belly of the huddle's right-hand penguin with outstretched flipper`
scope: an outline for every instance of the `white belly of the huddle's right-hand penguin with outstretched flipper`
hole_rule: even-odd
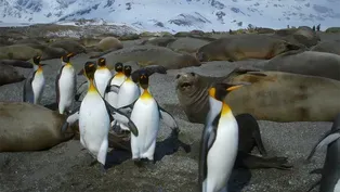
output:
[[[159,129],[159,111],[156,101],[153,98],[140,98],[133,106],[130,118],[139,129],[138,137],[131,135],[132,158],[153,161]]]

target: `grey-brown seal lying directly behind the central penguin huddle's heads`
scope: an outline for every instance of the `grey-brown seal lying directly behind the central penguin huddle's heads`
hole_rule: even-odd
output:
[[[135,61],[140,66],[160,65],[167,69],[178,69],[188,66],[200,66],[199,61],[189,54],[180,54],[168,48],[157,46],[134,46],[109,52],[103,57],[107,61],[107,67],[114,69],[117,62],[126,63]]]

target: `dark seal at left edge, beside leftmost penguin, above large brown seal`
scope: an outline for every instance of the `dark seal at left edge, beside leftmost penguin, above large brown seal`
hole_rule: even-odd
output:
[[[26,78],[11,65],[0,64],[0,86],[19,82]]]

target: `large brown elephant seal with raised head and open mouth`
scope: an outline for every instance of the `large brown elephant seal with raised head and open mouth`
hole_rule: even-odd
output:
[[[207,88],[214,81],[250,84],[225,98],[234,115],[249,113],[257,119],[272,121],[331,121],[340,112],[340,81],[323,77],[236,68],[225,77],[183,73],[176,79],[178,99],[193,123],[206,119]],[[319,102],[322,98],[327,100]]]

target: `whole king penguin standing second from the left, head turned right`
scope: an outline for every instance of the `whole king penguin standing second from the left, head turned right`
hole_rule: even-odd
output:
[[[73,53],[62,56],[62,67],[55,79],[56,103],[60,114],[70,113],[77,91],[76,71],[70,64]]]

